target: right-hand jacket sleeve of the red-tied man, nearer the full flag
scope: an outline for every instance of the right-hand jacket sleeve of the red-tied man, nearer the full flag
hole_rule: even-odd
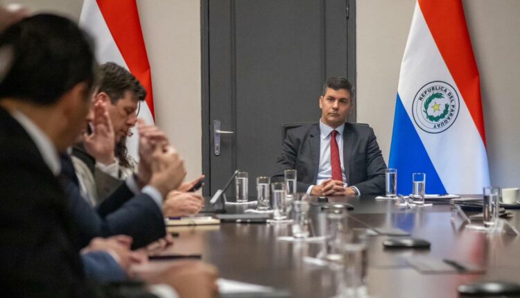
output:
[[[376,140],[374,130],[370,128],[370,135],[366,150],[367,179],[364,182],[354,184],[361,195],[381,195],[385,193],[385,160]]]

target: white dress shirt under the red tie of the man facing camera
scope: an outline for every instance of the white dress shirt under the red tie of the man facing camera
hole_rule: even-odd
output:
[[[340,154],[341,164],[341,177],[344,183],[344,187],[347,185],[347,177],[345,176],[345,167],[343,166],[343,130],[345,125],[340,125],[338,128],[331,128],[329,125],[323,123],[320,119],[320,165],[318,166],[318,176],[316,177],[316,184],[320,185],[325,179],[332,177],[332,166],[331,166],[331,137],[332,131],[336,130],[336,143],[338,143],[338,150]],[[307,194],[311,194],[311,190],[314,185],[309,186]],[[353,186],[359,193],[356,186]]]

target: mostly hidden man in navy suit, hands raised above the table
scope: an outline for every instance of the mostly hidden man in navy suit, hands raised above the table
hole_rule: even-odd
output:
[[[99,146],[103,143],[102,140],[106,139],[103,137],[103,131],[110,130],[110,119],[104,104],[96,103],[94,109],[90,109],[85,121],[92,121],[94,130],[90,142]],[[110,140],[112,139],[110,137]],[[146,139],[146,136],[141,135],[141,139]],[[109,143],[113,143],[113,140]],[[140,153],[153,157],[153,148],[147,146],[150,141],[141,141],[141,143],[143,146]],[[145,148],[147,149],[144,150]],[[80,191],[80,181],[76,176],[71,157],[60,155],[60,160],[62,163],[60,182],[69,197],[69,209],[73,219],[78,224],[80,247],[87,245],[94,237],[117,234],[131,236],[133,248],[143,247],[164,237],[166,227],[162,214],[163,198],[166,193],[180,185],[184,177],[182,171],[170,173],[165,177],[166,179],[156,179],[156,176],[161,173],[151,169],[153,159],[143,158],[141,164],[144,168],[140,175],[129,177],[109,198],[94,208],[83,198],[84,194]],[[144,175],[145,173],[148,175]],[[172,185],[173,181],[176,182]]]

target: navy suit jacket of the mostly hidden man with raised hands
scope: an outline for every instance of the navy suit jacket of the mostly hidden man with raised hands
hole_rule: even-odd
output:
[[[94,237],[118,234],[131,236],[132,248],[143,247],[166,235],[164,216],[149,195],[134,195],[123,183],[96,209],[81,196],[78,180],[69,155],[61,155],[62,185],[70,200],[73,218],[79,227],[80,245]]]

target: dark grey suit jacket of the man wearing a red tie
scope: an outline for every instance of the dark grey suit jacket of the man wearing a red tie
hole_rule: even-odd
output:
[[[283,181],[284,170],[297,170],[297,191],[306,192],[316,183],[320,166],[320,125],[306,124],[287,131],[277,170],[272,181]],[[374,130],[368,125],[345,123],[343,130],[343,166],[349,186],[363,195],[385,193],[386,164]]]

